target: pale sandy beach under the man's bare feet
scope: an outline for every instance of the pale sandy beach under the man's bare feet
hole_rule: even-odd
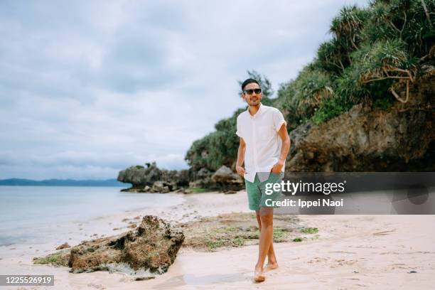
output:
[[[80,225],[80,232],[88,236],[91,232],[114,235],[129,230],[137,216],[149,214],[177,223],[225,213],[249,213],[245,191],[182,196],[183,203],[168,210],[146,213],[136,210],[104,217],[100,227]],[[55,252],[60,241],[70,245],[80,242],[81,236],[73,233],[72,240],[48,238],[50,242],[38,248],[10,246],[7,254],[0,257],[0,269],[1,274],[54,274],[55,286],[46,289],[433,289],[434,215],[299,215],[298,218],[303,227],[318,227],[316,239],[276,243],[279,269],[267,272],[262,284],[252,281],[257,245],[224,247],[215,252],[182,247],[167,273],[147,281],[135,281],[122,273],[71,274],[68,267],[33,264],[33,257]]]

